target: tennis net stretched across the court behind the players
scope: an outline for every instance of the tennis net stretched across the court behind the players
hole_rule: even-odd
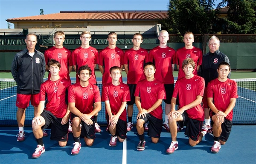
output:
[[[233,79],[238,85],[239,99],[233,109],[233,124],[256,124],[256,78]],[[75,81],[72,81],[74,83]],[[98,84],[100,93],[102,84]],[[16,121],[16,88],[17,84],[13,79],[0,79],[0,126],[17,126]],[[162,104],[163,109],[165,104]],[[137,107],[134,105],[133,123],[136,123]],[[164,113],[163,113],[164,114]],[[32,105],[26,109],[25,126],[31,126],[34,116]],[[98,124],[106,125],[105,103],[102,102],[102,110],[98,115]]]

